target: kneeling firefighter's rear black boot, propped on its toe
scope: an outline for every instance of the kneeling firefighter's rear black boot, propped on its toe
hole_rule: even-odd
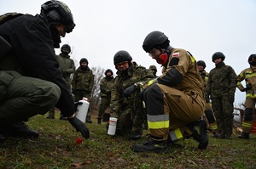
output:
[[[207,123],[204,120],[198,120],[189,124],[190,130],[193,132],[191,137],[199,143],[198,149],[207,149],[208,135],[207,135]],[[197,129],[196,129],[197,128]]]

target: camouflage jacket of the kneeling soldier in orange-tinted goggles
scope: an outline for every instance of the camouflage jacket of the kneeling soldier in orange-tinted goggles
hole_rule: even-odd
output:
[[[137,101],[138,93],[132,93],[131,97],[125,98],[123,92],[127,87],[131,87],[135,82],[154,79],[151,70],[137,65],[136,62],[133,62],[127,73],[118,71],[117,75],[114,79],[110,102],[110,111],[115,115],[118,115],[119,111],[135,107],[134,104],[142,104],[142,102]]]

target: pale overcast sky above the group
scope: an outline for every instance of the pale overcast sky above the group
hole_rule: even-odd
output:
[[[38,14],[44,0],[0,0],[0,14]],[[113,55],[129,52],[138,65],[160,65],[143,51],[144,38],[151,31],[162,31],[174,48],[184,48],[197,60],[214,68],[212,54],[223,52],[226,65],[236,74],[249,65],[256,54],[255,0],[63,0],[76,24],[73,32],[61,38],[61,45],[72,47],[71,58],[89,60],[89,66],[112,69]],[[56,49],[56,54],[60,49]],[[245,100],[236,90],[235,103]]]

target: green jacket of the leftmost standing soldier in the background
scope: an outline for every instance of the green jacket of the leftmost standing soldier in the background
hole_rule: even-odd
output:
[[[74,73],[75,71],[75,65],[73,63],[73,59],[70,59],[70,56],[67,55],[56,55],[56,59],[59,63],[61,72],[63,74],[63,77],[66,78],[70,78],[70,75]]]

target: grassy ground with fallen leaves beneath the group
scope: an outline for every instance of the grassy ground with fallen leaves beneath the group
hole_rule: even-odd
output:
[[[58,114],[58,113],[57,113]],[[28,127],[40,133],[37,140],[7,138],[0,144],[0,168],[256,168],[256,134],[251,139],[241,140],[233,135],[232,140],[217,139],[209,133],[206,150],[196,149],[192,139],[169,145],[163,154],[135,153],[131,144],[141,143],[143,138],[131,141],[127,137],[107,135],[105,123],[87,124],[90,139],[80,137],[68,121],[58,118],[49,120],[46,115],[34,116],[26,122]]]

